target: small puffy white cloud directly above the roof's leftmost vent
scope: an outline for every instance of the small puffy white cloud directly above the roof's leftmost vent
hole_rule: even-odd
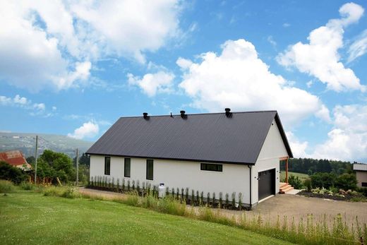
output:
[[[172,82],[174,80],[173,73],[158,71],[157,73],[148,73],[140,78],[128,73],[128,84],[136,85],[149,97],[155,96],[157,93],[173,92]]]

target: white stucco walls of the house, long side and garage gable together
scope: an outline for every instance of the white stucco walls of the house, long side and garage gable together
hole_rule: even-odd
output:
[[[258,161],[252,166],[251,204],[258,203],[258,172],[275,168],[275,193],[278,193],[279,157],[287,156],[287,150],[284,147],[279,129],[273,121],[260,151]],[[218,162],[218,164],[221,163]],[[200,162],[154,160],[154,178],[150,181],[146,179],[146,159],[131,158],[131,177],[125,177],[125,180],[139,180],[140,186],[142,186],[143,181],[145,183],[150,182],[152,185],[164,183],[165,186],[169,186],[170,189],[174,188],[175,191],[177,187],[180,191],[181,188],[186,189],[188,187],[190,195],[193,189],[195,192],[204,191],[204,197],[207,196],[207,192],[210,192],[210,196],[215,192],[216,198],[219,198],[219,192],[222,192],[224,199],[225,193],[228,193],[230,200],[231,193],[236,192],[236,197],[238,197],[238,193],[241,192],[243,194],[242,202],[250,203],[249,174],[250,169],[247,165],[223,164],[223,172],[212,172],[200,170]],[[104,156],[91,155],[90,177],[96,176],[105,176]],[[120,179],[121,183],[124,178],[124,157],[111,157],[111,174],[107,177],[114,177],[115,182]]]

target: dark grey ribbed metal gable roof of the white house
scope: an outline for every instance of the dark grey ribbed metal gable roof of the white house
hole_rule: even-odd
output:
[[[293,157],[276,111],[121,117],[87,154],[253,165],[273,119]]]

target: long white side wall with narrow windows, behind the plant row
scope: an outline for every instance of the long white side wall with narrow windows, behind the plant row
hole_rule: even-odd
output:
[[[220,164],[220,163],[218,163]],[[91,155],[90,156],[90,177],[105,176],[104,175],[104,157]],[[117,178],[121,180],[124,178],[124,157],[111,157],[111,175],[107,177],[114,177],[115,182]],[[176,160],[154,160],[153,180],[146,179],[146,159],[131,158],[131,177],[126,178],[137,181],[140,186],[143,181],[149,182],[152,185],[164,183],[170,189],[178,187],[189,188],[189,195],[191,190],[203,191],[206,198],[207,192],[215,192],[216,198],[219,198],[219,192],[223,193],[223,201],[225,194],[229,194],[229,201],[231,201],[231,193],[236,192],[236,198],[241,192],[243,194],[242,202],[249,203],[249,169],[247,165],[230,165],[223,164],[223,172],[212,172],[200,170],[200,162],[187,162]]]

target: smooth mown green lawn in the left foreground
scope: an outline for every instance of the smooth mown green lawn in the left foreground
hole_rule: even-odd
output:
[[[243,229],[112,201],[0,196],[1,244],[288,244]]]

